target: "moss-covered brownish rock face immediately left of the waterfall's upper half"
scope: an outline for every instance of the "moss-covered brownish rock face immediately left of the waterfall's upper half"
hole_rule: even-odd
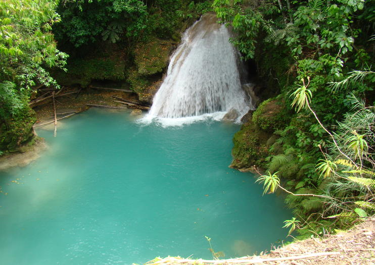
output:
[[[171,48],[170,40],[158,38],[138,44],[134,49],[134,63],[137,72],[144,76],[163,72],[168,66]]]

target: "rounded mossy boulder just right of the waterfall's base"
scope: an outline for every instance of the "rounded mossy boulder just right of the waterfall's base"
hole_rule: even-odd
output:
[[[284,100],[269,98],[253,113],[252,122],[261,129],[273,132],[284,128],[290,121],[291,114],[285,106]]]

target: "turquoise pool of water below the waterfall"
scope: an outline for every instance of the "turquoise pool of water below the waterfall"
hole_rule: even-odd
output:
[[[61,121],[49,148],[0,173],[2,264],[131,264],[156,256],[252,255],[285,240],[291,213],[229,169],[239,125],[140,124],[90,109]]]

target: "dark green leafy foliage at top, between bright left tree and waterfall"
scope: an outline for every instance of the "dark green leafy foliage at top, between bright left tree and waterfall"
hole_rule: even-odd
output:
[[[137,40],[147,27],[147,6],[139,0],[62,2],[58,12],[63,23],[54,28],[56,38],[75,47],[97,40]]]

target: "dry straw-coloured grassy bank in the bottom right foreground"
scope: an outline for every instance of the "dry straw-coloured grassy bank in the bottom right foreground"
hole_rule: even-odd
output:
[[[372,217],[347,232],[298,241],[266,255],[221,260],[167,257],[146,264],[375,264],[374,228],[375,217]]]

